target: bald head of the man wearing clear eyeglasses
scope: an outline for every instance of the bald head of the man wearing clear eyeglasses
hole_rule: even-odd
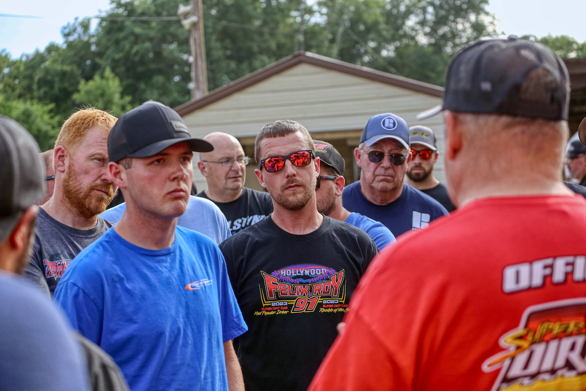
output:
[[[239,198],[246,180],[242,145],[236,137],[223,132],[210,133],[203,140],[214,147],[212,152],[200,153],[197,162],[199,171],[206,177],[207,197],[216,202]]]

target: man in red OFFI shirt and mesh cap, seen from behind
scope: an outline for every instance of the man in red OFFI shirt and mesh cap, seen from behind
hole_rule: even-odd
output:
[[[484,40],[445,86],[458,210],[373,262],[310,390],[582,388],[586,200],[560,179],[564,63],[540,43]]]

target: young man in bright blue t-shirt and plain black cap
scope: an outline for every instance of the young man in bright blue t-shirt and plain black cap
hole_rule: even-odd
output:
[[[57,285],[73,327],[113,356],[132,390],[244,389],[231,339],[247,327],[222,253],[176,226],[192,151],[211,150],[161,103],[122,115],[108,137],[108,168],[124,215]]]

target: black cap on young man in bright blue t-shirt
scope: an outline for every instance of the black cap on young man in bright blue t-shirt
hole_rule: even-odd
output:
[[[147,158],[178,142],[188,142],[192,151],[210,152],[212,144],[193,138],[189,128],[171,107],[149,100],[122,115],[108,135],[108,158]]]

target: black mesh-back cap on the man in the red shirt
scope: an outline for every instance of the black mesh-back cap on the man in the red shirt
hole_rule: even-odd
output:
[[[547,102],[520,97],[523,82],[536,69],[556,80]],[[456,54],[448,67],[444,101],[417,119],[451,110],[567,121],[569,104],[568,70],[560,57],[541,43],[509,36],[473,43]]]

